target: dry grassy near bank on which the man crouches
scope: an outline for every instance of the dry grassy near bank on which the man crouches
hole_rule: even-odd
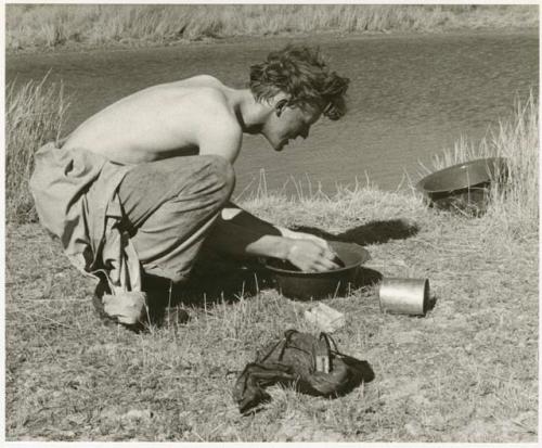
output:
[[[25,189],[30,149],[59,131],[65,102],[54,92],[38,84],[9,95],[8,165],[21,168],[12,170],[20,180],[8,185],[8,201]],[[437,159],[509,158],[508,184],[479,218],[370,185],[298,199],[260,189],[246,199],[243,205],[262,218],[371,253],[349,294],[324,302],[347,317],[335,334],[339,347],[375,372],[337,399],[270,387],[272,401],[249,417],[231,398],[237,374],[286,329],[315,332],[304,320],[310,303],[253,277],[232,284],[211,272],[191,295],[175,293],[190,315],[185,324],[146,334],[104,327],[90,300],[93,282],[69,265],[59,242],[37,223],[10,223],[7,438],[537,441],[538,148],[531,99],[480,145],[459,142]],[[425,318],[383,315],[375,284],[382,277],[428,278],[435,307]]]

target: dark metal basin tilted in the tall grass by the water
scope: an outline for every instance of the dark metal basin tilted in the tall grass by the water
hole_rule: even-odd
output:
[[[416,189],[438,208],[483,212],[491,182],[503,181],[506,174],[506,158],[478,158],[433,172]]]

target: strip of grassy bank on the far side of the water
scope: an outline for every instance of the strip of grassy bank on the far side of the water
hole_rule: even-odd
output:
[[[537,5],[8,4],[8,51],[307,33],[538,29]]]

